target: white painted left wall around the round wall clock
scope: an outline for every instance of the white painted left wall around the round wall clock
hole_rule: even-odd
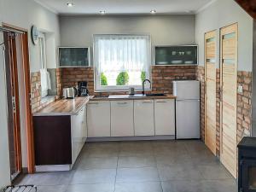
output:
[[[38,47],[32,44],[30,31],[31,26],[36,25],[42,32],[51,34],[48,42],[48,67],[56,67],[55,50],[60,45],[59,19],[55,13],[43,8],[33,0],[1,0],[3,10],[0,12],[2,20],[14,26],[26,28],[29,31],[30,65],[32,72],[38,72],[39,54]]]

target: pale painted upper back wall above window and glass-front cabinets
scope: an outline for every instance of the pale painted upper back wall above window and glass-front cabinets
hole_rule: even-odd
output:
[[[61,46],[91,46],[93,34],[149,34],[152,46],[195,44],[195,15],[61,16]]]

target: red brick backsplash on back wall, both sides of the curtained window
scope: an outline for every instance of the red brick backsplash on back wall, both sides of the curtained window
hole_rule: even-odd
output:
[[[172,94],[172,81],[174,79],[195,80],[195,66],[153,66],[152,67],[152,92]],[[90,95],[127,94],[125,92],[96,93],[94,90],[94,69],[86,68],[62,68],[62,87],[76,86],[79,81],[88,82]]]

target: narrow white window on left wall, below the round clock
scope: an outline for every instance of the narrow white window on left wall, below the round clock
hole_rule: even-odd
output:
[[[48,90],[51,89],[49,72],[46,64],[46,47],[45,34],[40,32],[38,37],[39,61],[40,61],[40,76],[41,76],[41,96],[48,96]]]

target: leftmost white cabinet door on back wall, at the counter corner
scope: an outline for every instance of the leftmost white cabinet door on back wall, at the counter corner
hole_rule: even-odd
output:
[[[110,137],[110,102],[91,101],[87,105],[88,137]]]

